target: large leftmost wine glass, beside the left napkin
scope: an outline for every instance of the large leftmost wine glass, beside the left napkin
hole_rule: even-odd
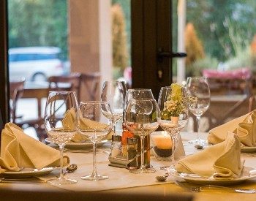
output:
[[[74,112],[75,118],[69,119],[65,124],[67,113]],[[61,153],[61,170],[59,178],[48,180],[52,185],[64,185],[77,183],[76,180],[64,178],[63,169],[63,150],[78,130],[78,101],[74,91],[50,91],[45,107],[45,130],[53,142],[59,145]]]

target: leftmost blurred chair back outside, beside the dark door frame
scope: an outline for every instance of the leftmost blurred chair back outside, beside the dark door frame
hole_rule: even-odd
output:
[[[13,123],[15,123],[16,120],[16,107],[18,99],[20,99],[23,95],[24,83],[24,78],[20,78],[20,80],[13,80],[10,82],[10,113]]]

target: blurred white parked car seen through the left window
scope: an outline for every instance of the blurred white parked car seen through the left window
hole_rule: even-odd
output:
[[[45,81],[49,76],[64,75],[67,69],[56,47],[23,47],[9,49],[10,79],[25,77],[29,81]]]

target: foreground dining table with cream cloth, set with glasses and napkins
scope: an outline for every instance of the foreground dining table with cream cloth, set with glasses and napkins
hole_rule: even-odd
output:
[[[202,139],[207,139],[206,132],[200,133]],[[188,143],[196,138],[194,132],[181,132],[181,139],[186,155],[197,153],[194,145]],[[50,146],[55,147],[53,144]],[[84,181],[80,176],[89,174],[92,169],[91,148],[81,148],[80,151],[67,149],[64,154],[69,156],[70,163],[78,164],[78,170],[67,173],[67,177],[75,178],[78,183],[51,186],[46,182],[42,183],[1,183],[0,200],[255,200],[256,194],[243,194],[237,192],[227,192],[215,189],[213,191],[190,192],[178,186],[175,178],[170,176],[167,181],[156,180],[156,175],[164,175],[165,171],[159,167],[170,165],[170,161],[158,161],[151,156],[151,165],[157,170],[148,174],[132,174],[129,170],[119,167],[110,167],[108,154],[105,149],[110,147],[110,142],[102,144],[97,148],[97,170],[99,173],[108,175],[104,181]],[[245,160],[244,166],[256,169],[255,155],[241,154]],[[47,180],[56,177],[59,169],[53,170],[48,175],[39,178]],[[246,180],[243,183],[233,185],[234,188],[256,189],[256,178]]]

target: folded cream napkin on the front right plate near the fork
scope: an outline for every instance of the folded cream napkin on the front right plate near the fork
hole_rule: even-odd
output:
[[[240,140],[229,132],[224,142],[181,159],[176,170],[201,177],[238,178],[244,167],[240,151]]]

